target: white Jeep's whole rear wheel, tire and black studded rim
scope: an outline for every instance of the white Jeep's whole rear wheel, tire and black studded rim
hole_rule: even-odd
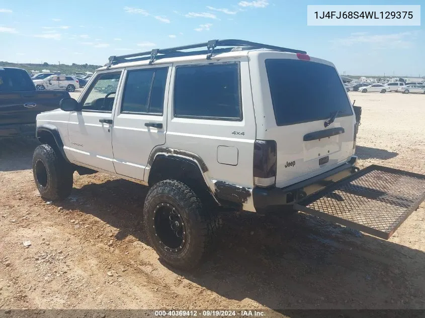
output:
[[[164,262],[183,270],[196,267],[207,255],[220,225],[215,211],[176,180],[153,185],[143,210],[153,249]]]

